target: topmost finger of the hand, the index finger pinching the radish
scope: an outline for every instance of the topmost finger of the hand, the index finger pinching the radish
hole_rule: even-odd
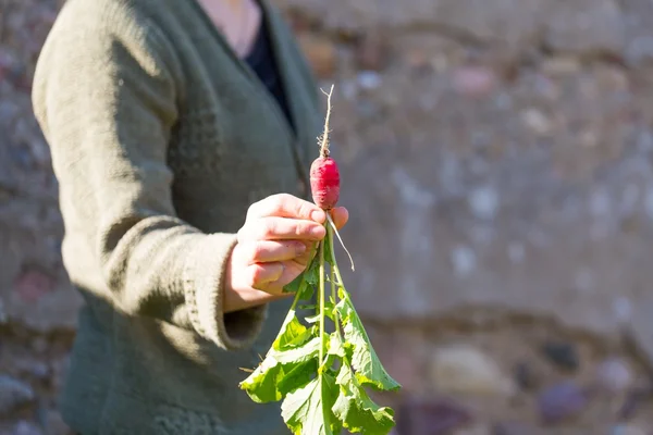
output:
[[[311,220],[317,223],[323,223],[326,219],[324,211],[318,206],[287,194],[262,199],[254,203],[247,212],[247,220],[269,216]]]

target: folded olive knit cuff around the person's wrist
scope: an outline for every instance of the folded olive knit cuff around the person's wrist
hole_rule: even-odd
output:
[[[193,326],[204,338],[226,350],[250,346],[261,332],[268,306],[224,313],[226,265],[235,234],[202,237],[186,259],[184,291]]]

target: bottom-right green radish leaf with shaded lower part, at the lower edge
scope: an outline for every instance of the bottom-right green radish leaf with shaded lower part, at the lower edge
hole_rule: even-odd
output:
[[[386,435],[394,427],[394,411],[379,407],[360,386],[347,364],[341,366],[335,383],[340,395],[333,406],[333,413],[352,433]]]

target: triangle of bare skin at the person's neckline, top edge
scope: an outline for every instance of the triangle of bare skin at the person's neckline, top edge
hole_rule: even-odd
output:
[[[236,54],[245,58],[261,25],[261,10],[256,0],[198,0],[198,2]]]

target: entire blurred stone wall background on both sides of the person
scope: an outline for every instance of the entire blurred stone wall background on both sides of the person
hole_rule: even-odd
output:
[[[653,2],[274,2],[335,84],[396,433],[653,434]],[[81,300],[29,100],[61,3],[0,0],[0,434],[67,434]]]

